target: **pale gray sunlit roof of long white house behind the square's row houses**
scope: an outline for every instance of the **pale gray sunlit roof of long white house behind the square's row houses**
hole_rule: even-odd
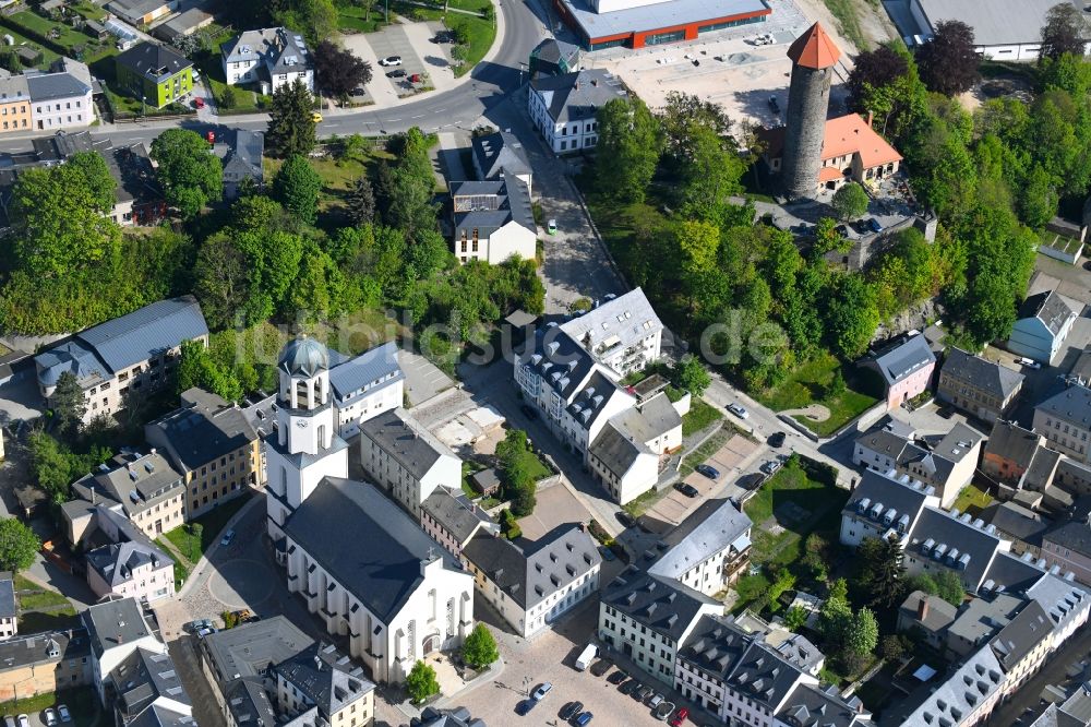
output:
[[[708,500],[667,534],[659,548],[666,552],[648,572],[678,579],[726,548],[742,551],[750,545],[746,534],[753,525],[730,500]]]

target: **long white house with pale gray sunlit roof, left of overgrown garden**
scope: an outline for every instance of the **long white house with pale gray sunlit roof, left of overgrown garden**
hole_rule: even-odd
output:
[[[753,525],[730,500],[708,500],[644,555],[648,573],[715,596],[750,564]]]

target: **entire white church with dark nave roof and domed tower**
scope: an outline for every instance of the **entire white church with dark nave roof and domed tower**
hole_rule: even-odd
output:
[[[327,631],[348,636],[350,655],[376,681],[400,682],[417,659],[461,643],[473,622],[473,580],[419,515],[337,474],[348,472],[348,449],[334,429],[325,346],[297,338],[278,369],[266,502],[288,589]]]

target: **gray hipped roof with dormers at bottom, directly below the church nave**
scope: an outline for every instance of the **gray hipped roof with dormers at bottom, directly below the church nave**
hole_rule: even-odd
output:
[[[332,644],[312,644],[276,665],[275,671],[317,706],[326,719],[375,689],[362,669]]]

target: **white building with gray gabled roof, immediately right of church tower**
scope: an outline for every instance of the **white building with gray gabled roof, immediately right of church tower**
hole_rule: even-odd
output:
[[[421,503],[435,488],[461,481],[461,460],[405,409],[363,421],[360,434],[364,472],[418,521]]]

